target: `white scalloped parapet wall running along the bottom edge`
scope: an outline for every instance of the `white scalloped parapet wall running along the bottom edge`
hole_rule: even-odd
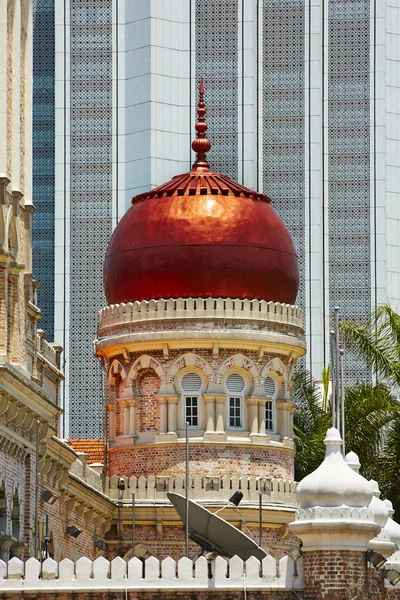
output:
[[[211,567],[211,569],[209,568]],[[297,570],[297,574],[295,572]],[[154,557],[142,562],[132,558],[126,562],[103,557],[91,561],[82,557],[73,563],[65,558],[60,563],[48,558],[42,564],[35,558],[25,563],[12,558],[0,561],[0,594],[31,591],[76,592],[88,590],[242,590],[303,588],[302,559],[294,562],[288,556],[278,562],[267,556],[262,563],[252,557],[245,563],[235,556],[230,561],[218,556],[211,565],[204,557],[192,562],[181,558],[162,561]]]

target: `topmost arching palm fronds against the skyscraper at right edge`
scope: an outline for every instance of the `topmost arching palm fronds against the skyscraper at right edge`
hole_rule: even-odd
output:
[[[378,306],[367,325],[342,321],[340,330],[377,377],[400,386],[400,315],[389,304]]]

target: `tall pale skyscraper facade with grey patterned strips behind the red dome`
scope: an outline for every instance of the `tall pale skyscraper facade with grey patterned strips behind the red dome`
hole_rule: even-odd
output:
[[[91,341],[105,248],[133,195],[190,168],[200,77],[212,168],[268,194],[294,237],[314,376],[336,305],[359,322],[380,302],[400,307],[396,10],[35,0],[35,273],[65,347],[66,435],[101,433]],[[349,383],[369,376],[350,353],[345,369]]]

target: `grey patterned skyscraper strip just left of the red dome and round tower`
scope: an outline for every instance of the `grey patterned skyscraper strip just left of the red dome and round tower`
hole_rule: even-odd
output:
[[[105,301],[102,259],[112,232],[111,0],[72,0],[70,36],[70,435],[98,437],[102,385],[91,343]],[[90,377],[79,376],[82,364]],[[90,427],[89,398],[96,406]]]

